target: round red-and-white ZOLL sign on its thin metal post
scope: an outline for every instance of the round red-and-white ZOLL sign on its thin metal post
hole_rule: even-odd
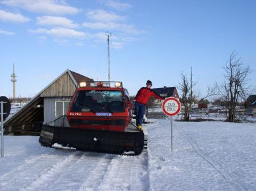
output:
[[[166,116],[171,116],[171,148],[173,151],[173,132],[172,132],[172,116],[176,116],[180,112],[180,101],[177,98],[166,98],[163,102],[162,109]]]

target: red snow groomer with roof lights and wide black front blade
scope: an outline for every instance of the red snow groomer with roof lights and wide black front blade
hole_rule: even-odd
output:
[[[134,151],[138,155],[144,134],[132,125],[131,118],[131,102],[122,82],[80,82],[68,107],[68,125],[43,125],[39,142],[102,153]]]

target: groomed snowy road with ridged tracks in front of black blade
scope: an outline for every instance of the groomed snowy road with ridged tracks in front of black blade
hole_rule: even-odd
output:
[[[44,148],[1,174],[0,190],[147,190],[147,153],[139,157]],[[48,152],[47,152],[48,151]]]

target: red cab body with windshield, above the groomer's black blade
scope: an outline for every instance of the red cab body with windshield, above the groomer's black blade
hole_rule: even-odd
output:
[[[125,88],[77,88],[67,112],[71,128],[124,132],[132,112]]]

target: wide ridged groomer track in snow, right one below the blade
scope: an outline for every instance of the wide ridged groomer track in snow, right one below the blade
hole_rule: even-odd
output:
[[[147,153],[135,157],[116,155],[111,161],[107,160],[104,174],[97,181],[99,184],[89,178],[80,190],[148,190]],[[93,177],[94,174],[92,180],[95,180]]]

